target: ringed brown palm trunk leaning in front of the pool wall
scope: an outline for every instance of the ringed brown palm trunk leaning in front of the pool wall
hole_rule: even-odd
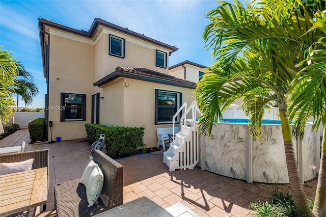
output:
[[[289,175],[291,193],[298,216],[314,216],[304,192],[302,179],[297,166],[293,148],[292,132],[287,117],[280,111],[282,134],[284,140],[286,166]]]

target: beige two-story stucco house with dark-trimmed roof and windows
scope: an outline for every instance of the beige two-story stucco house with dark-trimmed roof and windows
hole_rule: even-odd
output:
[[[100,18],[89,31],[38,22],[53,138],[85,138],[85,123],[144,126],[144,143],[156,147],[156,128],[172,126],[179,106],[195,100],[196,83],[169,75],[175,46]]]

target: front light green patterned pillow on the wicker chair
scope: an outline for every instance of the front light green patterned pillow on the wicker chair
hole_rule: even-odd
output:
[[[86,196],[88,207],[93,206],[100,196],[103,188],[103,173],[98,166],[95,166],[86,185]]]

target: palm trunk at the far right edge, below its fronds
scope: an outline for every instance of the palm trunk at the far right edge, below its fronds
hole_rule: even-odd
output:
[[[318,175],[318,184],[316,189],[316,197],[314,202],[313,213],[315,216],[326,215],[326,128],[323,128],[321,141],[321,158]]]

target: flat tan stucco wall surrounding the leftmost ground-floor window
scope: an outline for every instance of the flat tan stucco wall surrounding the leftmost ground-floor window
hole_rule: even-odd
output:
[[[85,121],[60,122],[60,110],[49,111],[49,121],[53,121],[52,138],[85,138],[85,123],[91,122],[91,96],[94,94],[91,82],[94,79],[94,46],[51,35],[49,58],[49,106],[61,106],[62,92],[86,94]],[[50,130],[48,138],[51,139]]]

